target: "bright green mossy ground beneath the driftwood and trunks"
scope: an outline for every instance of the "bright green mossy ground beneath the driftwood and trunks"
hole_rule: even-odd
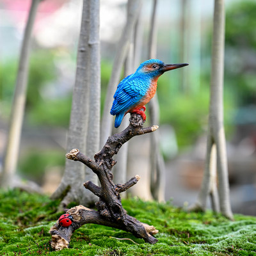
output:
[[[70,248],[51,250],[51,226],[63,212],[58,201],[17,189],[0,191],[0,255],[255,255],[256,218],[228,221],[211,211],[184,212],[172,204],[123,200],[127,212],[159,229],[157,244],[99,225],[74,232]],[[73,205],[72,205],[73,206]],[[116,238],[129,238],[118,240]]]

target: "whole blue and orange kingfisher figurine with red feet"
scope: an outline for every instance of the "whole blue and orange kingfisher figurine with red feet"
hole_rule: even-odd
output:
[[[156,59],[141,63],[134,74],[125,77],[117,86],[110,111],[111,115],[116,116],[115,127],[119,127],[127,113],[139,114],[145,121],[145,104],[156,93],[158,77],[166,71],[187,65],[187,63],[164,64],[163,61]]]

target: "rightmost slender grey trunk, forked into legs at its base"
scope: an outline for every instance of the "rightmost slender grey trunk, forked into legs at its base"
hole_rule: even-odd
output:
[[[204,211],[209,193],[211,193],[212,196],[216,194],[216,189],[214,188],[215,185],[212,185],[212,182],[214,182],[214,180],[212,180],[214,179],[214,172],[211,169],[217,168],[220,211],[224,216],[230,220],[233,220],[229,198],[227,153],[225,131],[223,125],[224,44],[225,4],[224,0],[215,0],[212,37],[211,100],[207,136],[207,156],[202,187],[198,195],[198,200],[196,204],[191,207],[191,209]],[[215,161],[215,159],[216,167],[214,167],[215,165],[212,167],[211,161]],[[212,204],[216,204],[217,201],[216,196],[214,197],[215,198],[213,198]]]

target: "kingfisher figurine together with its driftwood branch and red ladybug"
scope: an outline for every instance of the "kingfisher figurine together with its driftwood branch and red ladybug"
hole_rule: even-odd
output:
[[[158,129],[157,125],[143,128],[146,118],[144,104],[154,96],[157,79],[161,74],[186,65],[188,64],[164,65],[159,60],[148,60],[142,63],[134,74],[125,77],[118,84],[111,108],[111,114],[116,115],[115,127],[120,125],[126,113],[131,113],[129,126],[124,131],[110,136],[102,150],[95,154],[94,161],[84,156],[78,149],[73,149],[66,154],[68,159],[86,164],[99,177],[101,187],[90,180],[84,183],[86,189],[99,197],[99,201],[95,204],[97,211],[78,205],[61,215],[59,221],[50,230],[51,246],[54,250],[67,248],[74,230],[86,223],[119,228],[143,238],[147,243],[157,242],[154,234],[157,234],[158,230],[129,216],[122,207],[120,193],[131,188],[140,177],[136,175],[125,184],[114,184],[111,170],[116,161],[113,156],[118,154],[120,147],[132,137]]]

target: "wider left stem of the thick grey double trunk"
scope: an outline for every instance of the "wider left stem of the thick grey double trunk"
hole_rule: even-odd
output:
[[[78,147],[86,152],[86,132],[89,118],[90,104],[90,1],[83,1],[81,29],[77,49],[76,81],[72,99],[70,124],[67,138],[67,152]],[[94,84],[93,84],[94,86]],[[70,202],[86,204],[86,191],[83,189],[85,179],[84,164],[72,164],[66,160],[65,172],[58,189],[52,198],[63,198],[60,205],[62,211]]]

